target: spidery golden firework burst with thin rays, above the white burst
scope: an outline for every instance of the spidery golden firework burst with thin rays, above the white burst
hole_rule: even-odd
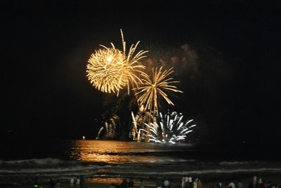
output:
[[[154,113],[158,112],[158,97],[164,98],[169,105],[174,105],[165,93],[166,90],[183,93],[176,86],[171,85],[179,83],[179,81],[172,81],[173,78],[167,78],[172,72],[174,72],[173,68],[162,71],[162,67],[160,67],[159,69],[152,68],[152,79],[147,74],[143,74],[143,86],[136,88],[138,90],[136,95],[141,95],[138,102],[144,105],[145,109],[149,109],[150,112],[153,110]]]

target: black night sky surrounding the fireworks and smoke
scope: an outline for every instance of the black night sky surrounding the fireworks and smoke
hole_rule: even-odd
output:
[[[122,28],[128,43],[140,40],[157,53],[184,43],[196,51],[200,76],[181,77],[185,93],[175,100],[198,133],[280,140],[275,1],[11,1],[1,14],[5,136],[96,136],[106,94],[87,80],[86,62],[100,43],[120,44]]]

